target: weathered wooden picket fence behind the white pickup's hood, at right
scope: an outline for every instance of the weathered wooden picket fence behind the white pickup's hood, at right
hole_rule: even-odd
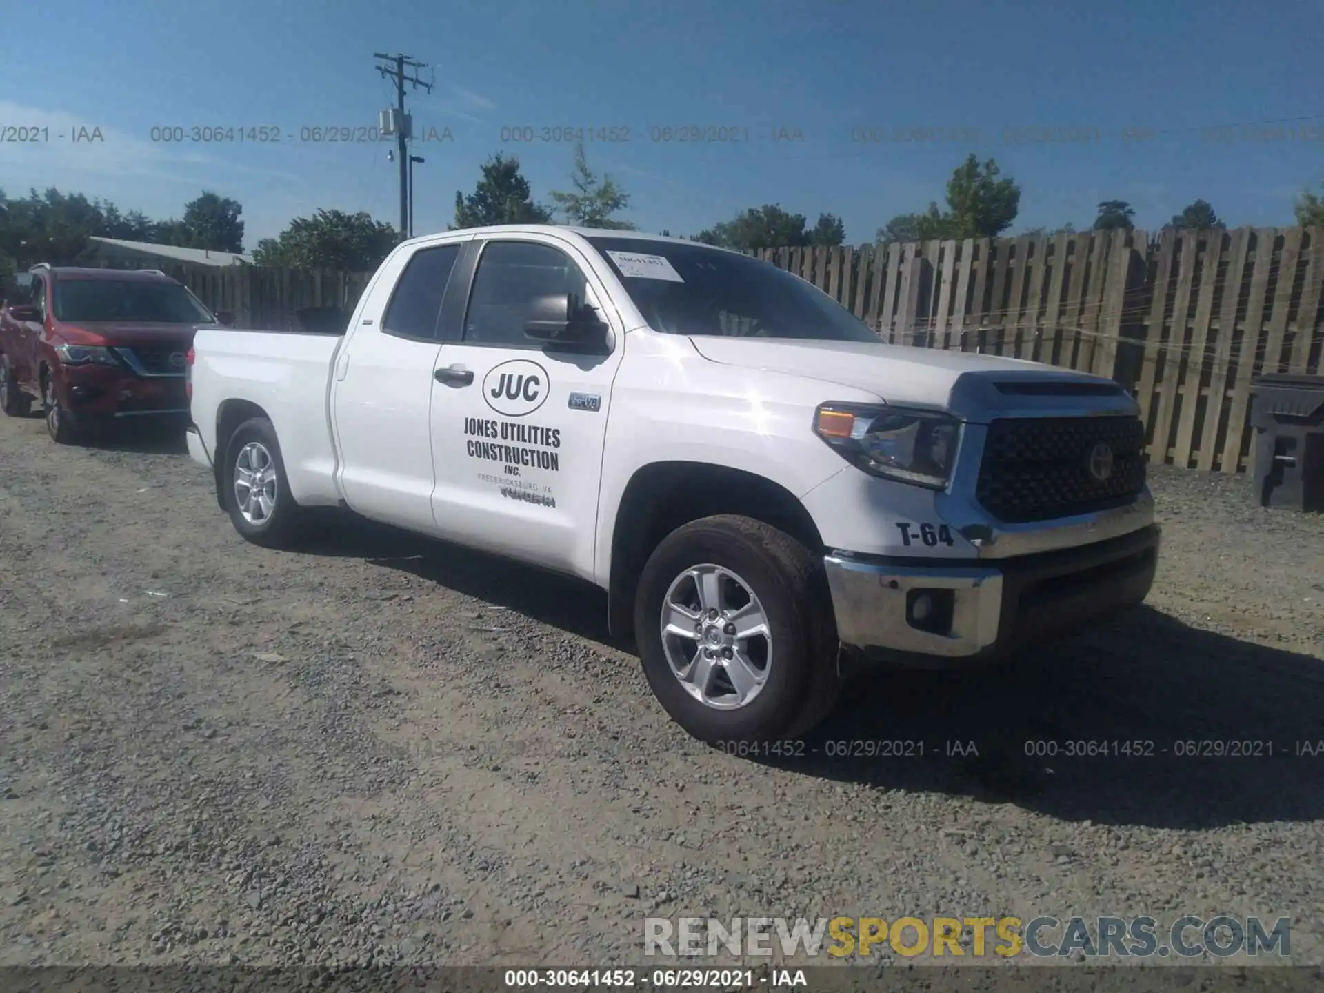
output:
[[[1116,379],[1155,462],[1247,467],[1251,380],[1317,373],[1324,228],[1143,230],[756,253],[884,340]]]

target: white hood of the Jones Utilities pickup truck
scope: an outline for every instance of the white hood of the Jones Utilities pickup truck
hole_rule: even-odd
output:
[[[951,410],[972,421],[1013,409],[1042,416],[1139,410],[1110,379],[1025,359],[880,342],[698,335],[690,340],[710,361],[835,383],[888,404]]]

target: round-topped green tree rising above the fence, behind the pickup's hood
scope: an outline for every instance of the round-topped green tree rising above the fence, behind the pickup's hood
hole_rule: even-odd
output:
[[[878,229],[878,241],[929,238],[993,238],[1016,221],[1021,187],[1004,177],[997,162],[970,155],[947,180],[947,211],[931,201],[922,213],[903,213]]]

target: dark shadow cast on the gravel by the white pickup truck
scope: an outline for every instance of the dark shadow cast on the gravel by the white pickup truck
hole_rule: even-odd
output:
[[[608,634],[606,596],[587,583],[356,519],[307,552],[402,569],[632,650]],[[1316,755],[1299,755],[1303,747]],[[1067,821],[1324,820],[1324,659],[1143,606],[1010,670],[875,670],[792,751],[748,761]]]

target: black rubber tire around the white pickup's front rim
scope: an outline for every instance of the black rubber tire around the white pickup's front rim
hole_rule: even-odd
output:
[[[748,584],[772,636],[763,688],[733,710],[718,710],[690,695],[663,645],[667,591],[700,564],[730,569]],[[665,538],[639,577],[634,632],[653,694],[673,720],[702,741],[798,737],[828,716],[841,690],[837,628],[822,560],[790,535],[751,518],[703,518]],[[678,643],[685,645],[683,639]]]

